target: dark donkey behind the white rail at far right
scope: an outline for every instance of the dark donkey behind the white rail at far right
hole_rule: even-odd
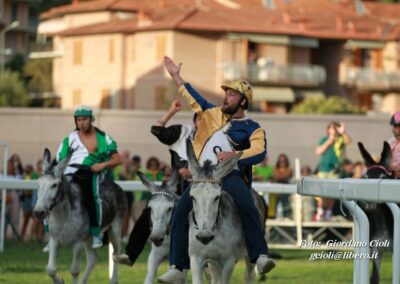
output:
[[[367,171],[365,178],[370,179],[393,179],[393,172],[390,172],[392,164],[392,151],[390,145],[387,142],[383,144],[383,150],[381,153],[380,161],[375,162],[368,151],[364,148],[364,145],[359,142],[358,147],[361,155],[364,159]],[[392,248],[393,245],[393,215],[389,207],[384,203],[371,203],[371,202],[360,202],[361,208],[368,217],[370,224],[370,239],[378,241],[390,242]],[[370,277],[371,284],[379,284],[380,281],[380,265],[383,256],[383,252],[389,249],[387,247],[371,247],[371,253],[377,255],[376,259],[373,259],[372,274]]]

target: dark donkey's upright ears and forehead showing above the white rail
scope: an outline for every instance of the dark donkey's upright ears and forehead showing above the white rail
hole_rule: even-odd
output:
[[[392,151],[390,145],[386,141],[383,143],[383,150],[379,162],[376,162],[371,157],[361,142],[358,142],[357,144],[361,156],[364,159],[365,166],[367,167],[365,178],[391,179],[394,177],[393,172],[390,171],[392,164]]]

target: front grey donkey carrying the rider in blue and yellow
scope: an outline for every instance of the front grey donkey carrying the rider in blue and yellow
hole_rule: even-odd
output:
[[[189,169],[193,176],[190,195],[193,210],[189,227],[189,256],[194,284],[202,283],[202,271],[207,265],[211,283],[230,283],[235,263],[247,253],[242,224],[231,196],[221,189],[219,181],[236,166],[239,156],[222,164],[211,165],[206,160],[201,167],[192,144],[187,142]],[[260,222],[265,219],[265,203],[252,190]],[[265,224],[265,222],[263,223]],[[254,282],[254,267],[246,257],[244,283]]]

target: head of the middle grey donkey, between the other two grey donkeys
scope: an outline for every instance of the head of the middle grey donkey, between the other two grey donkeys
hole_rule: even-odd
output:
[[[169,234],[172,211],[179,199],[179,196],[175,193],[179,173],[174,170],[171,178],[168,181],[164,181],[161,185],[156,185],[140,171],[138,175],[143,185],[152,191],[152,197],[148,204],[152,224],[150,241],[155,246],[160,246],[166,235]]]

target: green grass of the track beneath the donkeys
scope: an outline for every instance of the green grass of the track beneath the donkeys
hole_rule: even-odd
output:
[[[45,272],[47,254],[41,250],[43,244],[19,243],[7,241],[5,250],[0,254],[0,283],[25,284],[25,283],[51,283]],[[351,260],[322,260],[310,262],[308,259],[314,251],[306,250],[279,250],[282,259],[277,260],[277,267],[269,274],[267,283],[353,283],[353,261]],[[119,269],[119,283],[143,283],[146,274],[146,260],[149,246],[133,267],[121,266]],[[386,253],[382,262],[381,283],[391,283],[392,262],[391,254]],[[84,260],[82,257],[81,271]],[[71,261],[71,249],[61,248],[58,257],[58,273],[65,283],[71,283],[69,265]],[[167,270],[167,263],[159,269],[159,275]],[[241,275],[244,263],[236,265],[232,283],[241,283]],[[90,283],[108,283],[108,250],[98,250],[98,263],[91,276]]]

